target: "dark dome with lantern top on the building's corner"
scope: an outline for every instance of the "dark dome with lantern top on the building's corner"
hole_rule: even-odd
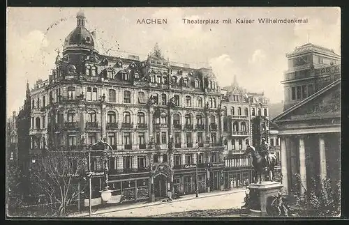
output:
[[[94,36],[85,27],[86,18],[80,10],[76,15],[76,28],[64,40],[63,49],[69,47],[84,47],[94,49]]]

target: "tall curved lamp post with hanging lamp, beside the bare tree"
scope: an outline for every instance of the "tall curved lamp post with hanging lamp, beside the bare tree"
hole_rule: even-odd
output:
[[[91,205],[91,200],[92,200],[92,184],[91,184],[91,177],[93,175],[93,172],[91,171],[91,150],[94,146],[96,145],[103,145],[103,153],[101,155],[101,158],[103,160],[103,164],[104,164],[104,177],[105,177],[105,187],[103,189],[103,191],[101,191],[101,197],[103,201],[109,201],[110,197],[112,196],[112,191],[109,189],[108,186],[108,167],[107,167],[107,162],[110,160],[110,156],[113,153],[113,149],[112,146],[110,146],[109,143],[106,142],[106,140],[104,139],[104,141],[100,140],[94,144],[92,144],[89,148],[89,164],[88,164],[88,172],[86,173],[87,178],[89,178],[89,217],[91,217],[91,212],[92,212],[92,205]]]

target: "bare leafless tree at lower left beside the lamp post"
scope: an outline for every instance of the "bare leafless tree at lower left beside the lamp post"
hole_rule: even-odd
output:
[[[61,216],[68,212],[68,207],[77,201],[86,183],[80,181],[87,165],[86,157],[81,153],[52,151],[46,153],[36,164],[31,180],[34,192],[38,191],[39,203],[45,207],[44,215]],[[39,194],[39,191],[42,194]]]

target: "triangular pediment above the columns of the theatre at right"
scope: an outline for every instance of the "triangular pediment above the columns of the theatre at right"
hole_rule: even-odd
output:
[[[341,115],[341,87],[338,84],[319,91],[274,118],[279,121],[336,118]],[[325,89],[325,88],[324,88]]]

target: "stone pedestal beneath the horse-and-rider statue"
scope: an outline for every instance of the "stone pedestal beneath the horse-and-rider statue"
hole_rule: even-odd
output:
[[[263,181],[261,184],[253,183],[248,185],[250,198],[248,207],[246,208],[246,214],[253,217],[267,216],[268,198],[278,196],[281,187],[283,187],[281,183],[274,181]]]

